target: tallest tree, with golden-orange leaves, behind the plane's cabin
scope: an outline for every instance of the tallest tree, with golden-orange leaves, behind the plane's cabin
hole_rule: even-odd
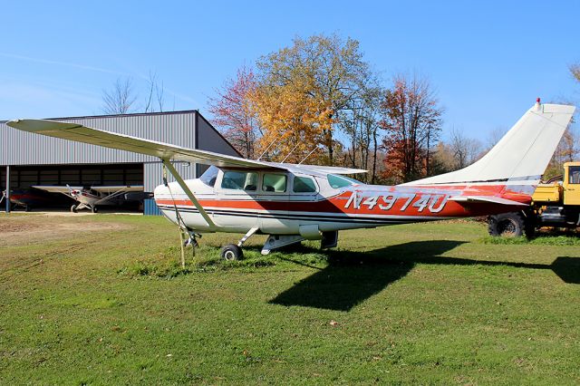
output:
[[[260,58],[257,69],[260,82],[254,102],[265,130],[262,148],[267,148],[273,138],[295,138],[286,131],[299,130],[298,137],[304,143],[298,147],[320,146],[325,159],[319,157],[319,161],[332,165],[337,145],[333,131],[339,113],[360,95],[362,79],[369,71],[359,43],[350,38],[344,41],[335,34],[297,37],[291,46]],[[278,152],[285,151],[292,149]]]

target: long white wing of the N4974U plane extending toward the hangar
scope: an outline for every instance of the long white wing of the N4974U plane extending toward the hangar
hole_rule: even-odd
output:
[[[218,167],[240,167],[250,169],[285,169],[276,167],[269,162],[253,159],[227,156],[206,150],[194,150],[163,143],[156,140],[143,140],[129,135],[110,131],[92,129],[76,123],[65,123],[48,120],[14,120],[6,124],[14,129],[43,134],[63,140],[75,140],[103,146],[105,148],[133,151],[160,159],[173,159],[187,162],[197,162]]]

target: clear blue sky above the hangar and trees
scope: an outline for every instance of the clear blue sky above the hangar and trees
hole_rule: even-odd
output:
[[[337,33],[361,43],[385,82],[430,79],[444,128],[485,141],[537,96],[580,104],[580,1],[4,2],[0,120],[99,114],[102,90],[156,72],[166,109],[207,111],[237,68]],[[139,103],[144,103],[141,95]]]

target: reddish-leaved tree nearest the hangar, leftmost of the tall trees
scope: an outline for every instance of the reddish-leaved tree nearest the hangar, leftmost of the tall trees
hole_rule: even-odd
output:
[[[213,123],[242,155],[250,159],[258,156],[256,141],[262,136],[256,109],[250,98],[250,94],[255,91],[256,76],[253,70],[241,67],[237,70],[236,78],[227,79],[218,90],[218,96],[209,100]]]

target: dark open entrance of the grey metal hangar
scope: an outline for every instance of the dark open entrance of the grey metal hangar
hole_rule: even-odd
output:
[[[0,168],[1,190],[5,190],[6,168]],[[10,190],[25,190],[35,185],[76,186],[83,188],[99,186],[143,185],[143,164],[101,164],[101,165],[27,165],[10,167]],[[37,192],[38,193],[38,192]],[[46,204],[34,210],[46,208],[67,208],[73,200],[58,193],[43,193],[50,198]],[[123,208],[141,210],[139,205]]]

